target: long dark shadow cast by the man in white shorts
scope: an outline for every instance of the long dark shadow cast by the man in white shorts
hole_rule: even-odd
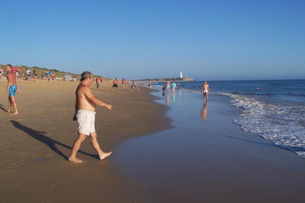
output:
[[[46,134],[45,132],[41,132],[41,131],[35,131],[31,128],[28,128],[27,126],[24,126],[22,124],[20,124],[19,122],[17,121],[13,121],[11,120],[11,122],[13,123],[13,125],[26,132],[28,135],[30,135],[32,138],[34,139],[37,139],[38,141],[42,142],[42,143],[45,143],[46,145],[49,146],[50,149],[52,149],[54,152],[56,152],[57,154],[59,154],[60,156],[62,156],[64,159],[68,159],[68,156],[64,155],[63,152],[61,152],[59,149],[57,149],[57,147],[55,145],[60,145],[60,146],[63,146],[67,149],[72,149],[72,147],[68,146],[68,145],[65,145],[61,142],[58,142],[56,140],[53,140],[52,138],[49,138],[45,135],[42,135],[42,133]],[[87,152],[83,152],[81,150],[79,150],[78,152],[84,154],[84,155],[87,155],[87,156],[91,156],[93,158],[96,158],[96,159],[99,159],[99,156],[98,155],[93,155],[93,154],[89,154]]]

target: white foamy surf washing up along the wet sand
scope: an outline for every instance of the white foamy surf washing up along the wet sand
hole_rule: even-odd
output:
[[[162,86],[159,86],[162,88]],[[196,89],[179,89],[201,93]],[[231,105],[242,108],[241,114],[233,122],[244,131],[259,133],[271,140],[274,145],[289,149],[305,158],[305,107],[290,105],[272,105],[257,98],[232,93],[211,93],[230,96]]]

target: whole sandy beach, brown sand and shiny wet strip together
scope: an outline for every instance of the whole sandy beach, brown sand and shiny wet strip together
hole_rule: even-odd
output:
[[[301,202],[304,159],[232,123],[229,97],[187,92],[162,96],[103,82],[95,96],[100,161],[87,138],[67,161],[77,136],[79,83],[20,81],[19,115],[5,112],[0,81],[0,196],[4,202]],[[153,100],[156,100],[154,102]],[[192,101],[192,103],[190,103]],[[165,105],[164,105],[165,104]],[[13,109],[12,109],[13,110]]]

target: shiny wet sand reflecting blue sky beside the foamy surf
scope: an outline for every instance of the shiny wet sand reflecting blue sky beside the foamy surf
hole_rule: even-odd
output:
[[[202,97],[158,100],[174,128],[119,145],[122,177],[155,202],[302,202],[305,159],[239,129],[229,97],[210,95],[205,105]]]

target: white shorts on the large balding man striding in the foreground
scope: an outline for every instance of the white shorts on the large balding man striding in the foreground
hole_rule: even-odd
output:
[[[76,119],[78,123],[77,131],[85,135],[90,135],[91,132],[95,132],[94,121],[95,111],[88,111],[79,109],[76,113]]]

